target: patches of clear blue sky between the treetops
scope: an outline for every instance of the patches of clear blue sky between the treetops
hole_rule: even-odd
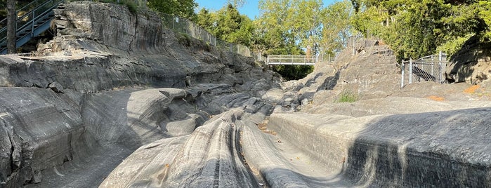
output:
[[[259,14],[259,8],[258,8],[258,0],[245,0],[244,6],[239,8],[239,12],[241,14],[245,14],[249,16],[252,20]],[[336,0],[322,0],[324,3],[324,6],[328,6],[329,4],[333,4],[334,1]],[[198,9],[201,8],[207,8],[210,11],[218,11],[220,8],[222,8],[227,0],[195,0],[195,2],[198,4]]]

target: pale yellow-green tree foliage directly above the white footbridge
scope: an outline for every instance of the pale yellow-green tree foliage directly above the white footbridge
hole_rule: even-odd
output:
[[[300,47],[317,54],[322,24],[320,0],[262,0],[254,25],[256,48],[266,54],[296,54]],[[280,52],[280,53],[278,53]]]

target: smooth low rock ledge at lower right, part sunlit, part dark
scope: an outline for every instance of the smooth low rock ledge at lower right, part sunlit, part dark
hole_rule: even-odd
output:
[[[274,113],[268,128],[355,186],[490,187],[490,110],[359,118]]]

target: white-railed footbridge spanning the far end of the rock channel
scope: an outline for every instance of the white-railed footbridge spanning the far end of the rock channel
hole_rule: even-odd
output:
[[[266,65],[315,65],[317,58],[312,55],[268,55]]]

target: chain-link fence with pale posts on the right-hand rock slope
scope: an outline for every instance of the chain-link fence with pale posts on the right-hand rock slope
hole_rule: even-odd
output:
[[[433,81],[445,83],[445,67],[447,55],[440,52],[438,55],[428,55],[418,60],[402,60],[400,87],[413,82]]]

